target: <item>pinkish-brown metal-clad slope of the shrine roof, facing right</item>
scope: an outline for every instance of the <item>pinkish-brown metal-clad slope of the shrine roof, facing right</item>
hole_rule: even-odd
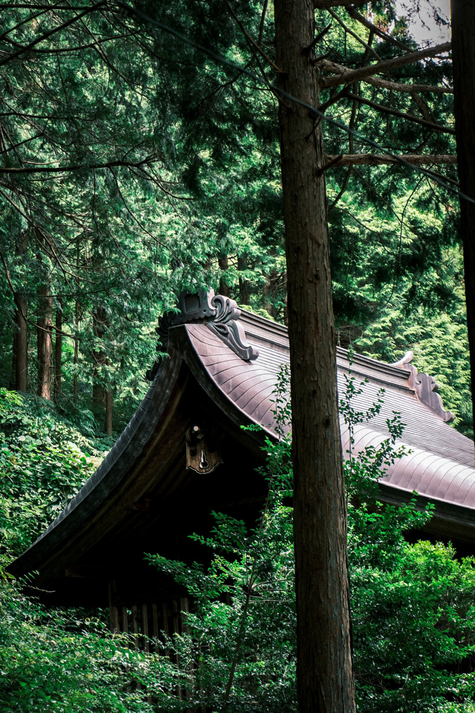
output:
[[[259,348],[256,361],[243,361],[230,349],[224,349],[219,337],[209,334],[206,324],[189,324],[186,329],[204,369],[236,409],[266,431],[275,433],[273,389],[281,364],[289,361],[287,330],[246,312],[241,314],[240,321],[249,342]],[[447,424],[442,402],[437,414],[419,400],[416,389],[410,385],[414,367],[409,371],[356,354],[350,364],[344,349],[338,349],[337,362],[340,396],[349,376],[357,381],[367,379],[362,394],[355,397],[354,407],[358,411],[367,411],[381,395],[380,389],[384,389],[380,414],[370,423],[357,426],[357,451],[367,445],[377,446],[387,438],[387,419],[392,419],[395,412],[405,424],[400,442],[411,452],[391,466],[385,483],[475,509],[474,443]],[[346,451],[348,430],[343,423],[341,426]]]

